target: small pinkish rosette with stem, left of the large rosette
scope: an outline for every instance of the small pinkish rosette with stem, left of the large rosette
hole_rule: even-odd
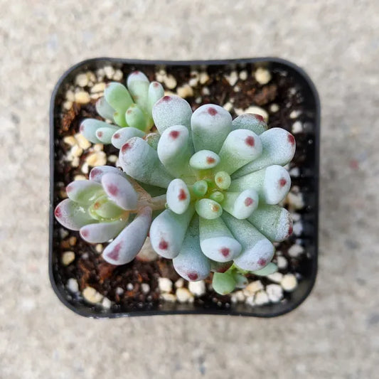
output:
[[[79,230],[90,243],[110,242],[102,255],[113,265],[136,257],[146,239],[152,210],[164,207],[166,196],[151,198],[137,183],[112,166],[98,166],[90,179],[66,187],[68,198],[55,208],[65,228]]]

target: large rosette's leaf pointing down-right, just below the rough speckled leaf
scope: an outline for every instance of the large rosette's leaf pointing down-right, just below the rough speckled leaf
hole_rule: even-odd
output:
[[[234,262],[240,269],[254,271],[265,267],[274,256],[274,245],[247,220],[237,220],[223,213],[223,220],[242,245],[242,252]]]

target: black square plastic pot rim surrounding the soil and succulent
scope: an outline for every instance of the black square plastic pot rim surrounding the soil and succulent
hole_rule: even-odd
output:
[[[112,311],[100,309],[97,306],[91,306],[84,301],[72,297],[65,289],[65,284],[60,279],[58,270],[58,254],[54,251],[55,225],[53,215],[53,193],[55,183],[54,159],[55,159],[55,128],[58,122],[57,100],[64,95],[65,83],[73,82],[75,75],[85,70],[96,70],[105,65],[113,65],[119,67],[121,65],[132,65],[134,68],[139,68],[139,65],[166,65],[170,66],[188,66],[188,65],[225,65],[225,68],[230,65],[240,64],[257,64],[263,65],[271,69],[284,69],[292,75],[297,84],[301,87],[304,96],[304,105],[306,107],[306,117],[309,123],[314,127],[309,131],[305,131],[306,138],[311,142],[310,154],[311,164],[307,165],[301,174],[301,190],[306,193],[304,201],[307,212],[304,215],[304,235],[301,235],[301,240],[305,247],[306,256],[300,269],[303,279],[299,282],[288,301],[278,304],[269,304],[265,306],[247,306],[245,304],[233,304],[229,309],[220,309],[216,304],[210,306],[194,306],[193,304],[170,304],[164,303],[156,309],[149,310],[122,310]],[[320,130],[320,102],[313,82],[309,79],[304,70],[297,67],[287,60],[279,58],[252,58],[252,59],[237,59],[237,60],[205,60],[205,61],[149,61],[149,60],[127,60],[114,58],[95,58],[85,60],[74,65],[67,70],[58,80],[53,90],[53,95],[50,102],[50,233],[49,233],[49,275],[50,282],[60,301],[75,311],[75,313],[87,317],[123,317],[123,316],[150,316],[164,314],[220,314],[233,316],[258,316],[272,317],[286,314],[289,311],[297,308],[311,292],[316,280],[317,272],[317,255],[318,255],[318,227],[319,227],[319,130]]]

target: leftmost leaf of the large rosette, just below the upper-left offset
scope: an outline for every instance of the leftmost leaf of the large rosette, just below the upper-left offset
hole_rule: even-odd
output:
[[[132,137],[122,146],[119,164],[127,175],[152,186],[167,188],[173,179],[159,161],[156,151],[139,137]]]

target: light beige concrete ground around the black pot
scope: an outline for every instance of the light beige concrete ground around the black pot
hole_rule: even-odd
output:
[[[378,378],[378,1],[0,0],[0,378]],[[84,319],[48,281],[48,103],[97,56],[277,55],[322,102],[320,267],[277,319]],[[376,374],[375,374],[376,373]]]

